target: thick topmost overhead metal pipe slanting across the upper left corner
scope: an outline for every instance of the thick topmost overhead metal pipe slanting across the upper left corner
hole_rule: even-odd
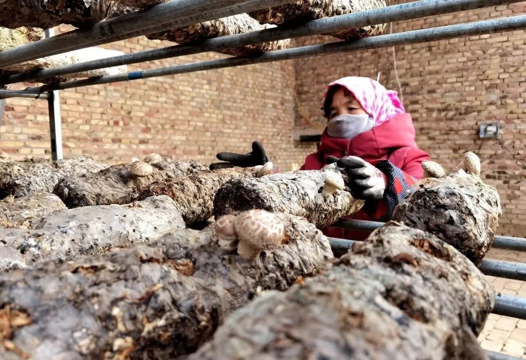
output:
[[[52,38],[17,46],[0,53],[0,67],[79,48],[107,44],[139,35],[179,28],[220,17],[236,15],[293,0],[171,0],[146,10],[125,14]]]

